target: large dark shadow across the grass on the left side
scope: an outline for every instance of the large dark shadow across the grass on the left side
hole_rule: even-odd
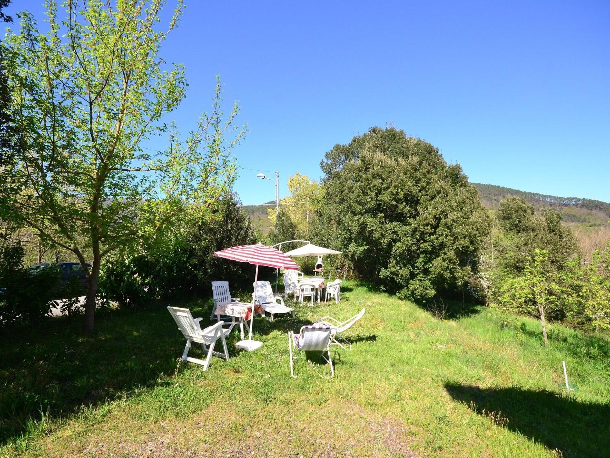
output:
[[[207,322],[209,304],[184,306]],[[87,336],[81,332],[82,316],[3,332],[0,445],[14,442],[30,418],[40,419],[41,411],[48,410],[49,420],[70,418],[82,406],[165,383],[160,377],[175,373],[185,344],[166,307],[163,302],[146,309],[98,313],[95,332]],[[231,355],[236,353],[236,341],[239,330],[228,339]],[[195,352],[203,355],[198,346],[193,346]]]

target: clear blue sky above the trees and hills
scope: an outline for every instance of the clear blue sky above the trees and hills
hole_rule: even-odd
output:
[[[190,84],[173,118],[191,128],[220,73],[248,124],[235,156],[279,170],[281,197],[333,145],[393,123],[471,181],[610,202],[607,0],[185,2],[163,50]],[[246,205],[274,198],[256,173],[235,183]]]

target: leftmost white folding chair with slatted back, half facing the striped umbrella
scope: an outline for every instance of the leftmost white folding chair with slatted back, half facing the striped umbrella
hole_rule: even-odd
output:
[[[210,365],[212,355],[224,358],[227,361],[229,360],[229,351],[227,349],[224,336],[231,332],[231,329],[223,329],[223,323],[221,321],[206,327],[206,329],[201,329],[199,322],[203,318],[193,319],[193,315],[190,313],[188,308],[168,307],[167,310],[170,311],[171,316],[174,317],[174,321],[176,321],[176,324],[178,324],[178,329],[180,332],[182,332],[182,335],[184,335],[184,338],[187,340],[187,344],[184,347],[184,352],[182,352],[182,361],[201,364],[203,365],[203,370],[206,371],[207,366]],[[214,351],[214,344],[218,339],[220,339],[223,343],[224,355]],[[187,356],[188,351],[190,350],[191,342],[201,344],[201,348],[205,353],[207,353],[207,358],[205,361]],[[207,347],[208,345],[210,346],[209,348]]]

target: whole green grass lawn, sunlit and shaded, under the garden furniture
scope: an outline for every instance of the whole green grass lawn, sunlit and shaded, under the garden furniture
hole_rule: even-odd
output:
[[[255,352],[180,363],[167,303],[46,321],[0,339],[2,456],[609,456],[610,342],[470,307],[447,321],[344,283],[340,304],[256,318]],[[210,302],[176,303],[209,317]],[[287,331],[367,308],[333,352],[289,373]],[[195,348],[192,356],[202,357]],[[579,390],[562,393],[561,361]]]

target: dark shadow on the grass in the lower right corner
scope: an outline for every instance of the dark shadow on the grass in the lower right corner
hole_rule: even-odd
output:
[[[453,399],[494,423],[564,456],[608,456],[610,405],[578,402],[550,391],[483,389],[445,383]]]

